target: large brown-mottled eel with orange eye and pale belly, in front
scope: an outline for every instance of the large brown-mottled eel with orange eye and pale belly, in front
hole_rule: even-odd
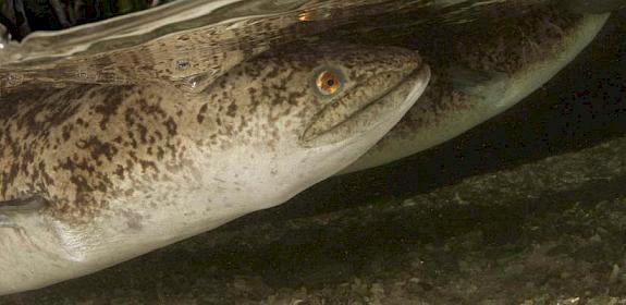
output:
[[[311,82],[327,68],[345,75],[331,97]],[[319,45],[261,54],[198,94],[147,83],[4,96],[0,200],[44,207],[0,203],[0,294],[285,202],[376,144],[428,78],[414,51]]]

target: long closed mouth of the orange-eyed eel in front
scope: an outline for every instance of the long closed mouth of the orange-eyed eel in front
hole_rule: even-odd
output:
[[[377,93],[357,87],[328,105],[314,117],[300,136],[300,144],[305,147],[334,144],[365,134],[390,120],[400,120],[421,96],[429,80],[430,69],[424,63],[408,75],[400,71],[372,76],[360,87],[371,88],[383,82],[392,85]],[[348,99],[354,100],[345,102]]]

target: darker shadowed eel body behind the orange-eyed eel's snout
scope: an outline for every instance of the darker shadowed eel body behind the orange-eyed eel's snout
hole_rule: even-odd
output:
[[[574,60],[609,15],[576,15],[547,7],[488,23],[474,35],[435,32],[419,37],[418,41],[430,42],[419,46],[432,68],[432,82],[403,120],[341,173],[412,156],[505,111]],[[491,35],[484,36],[487,30]],[[458,38],[452,41],[449,36]]]

